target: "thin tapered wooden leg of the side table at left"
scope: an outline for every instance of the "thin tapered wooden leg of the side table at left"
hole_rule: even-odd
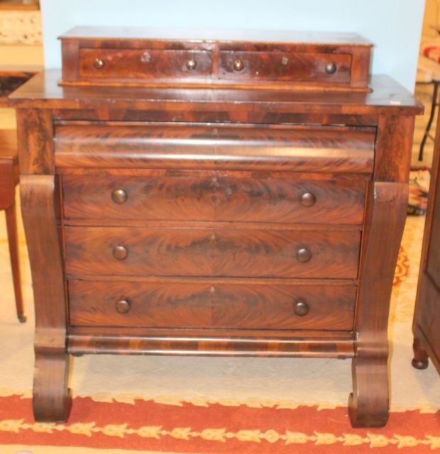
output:
[[[23,311],[23,296],[21,294],[20,258],[18,255],[18,233],[15,204],[12,204],[6,209],[6,228],[8,231],[9,255],[11,256],[13,290],[16,296],[17,316],[18,320],[21,323],[24,323],[26,321],[26,316]]]

